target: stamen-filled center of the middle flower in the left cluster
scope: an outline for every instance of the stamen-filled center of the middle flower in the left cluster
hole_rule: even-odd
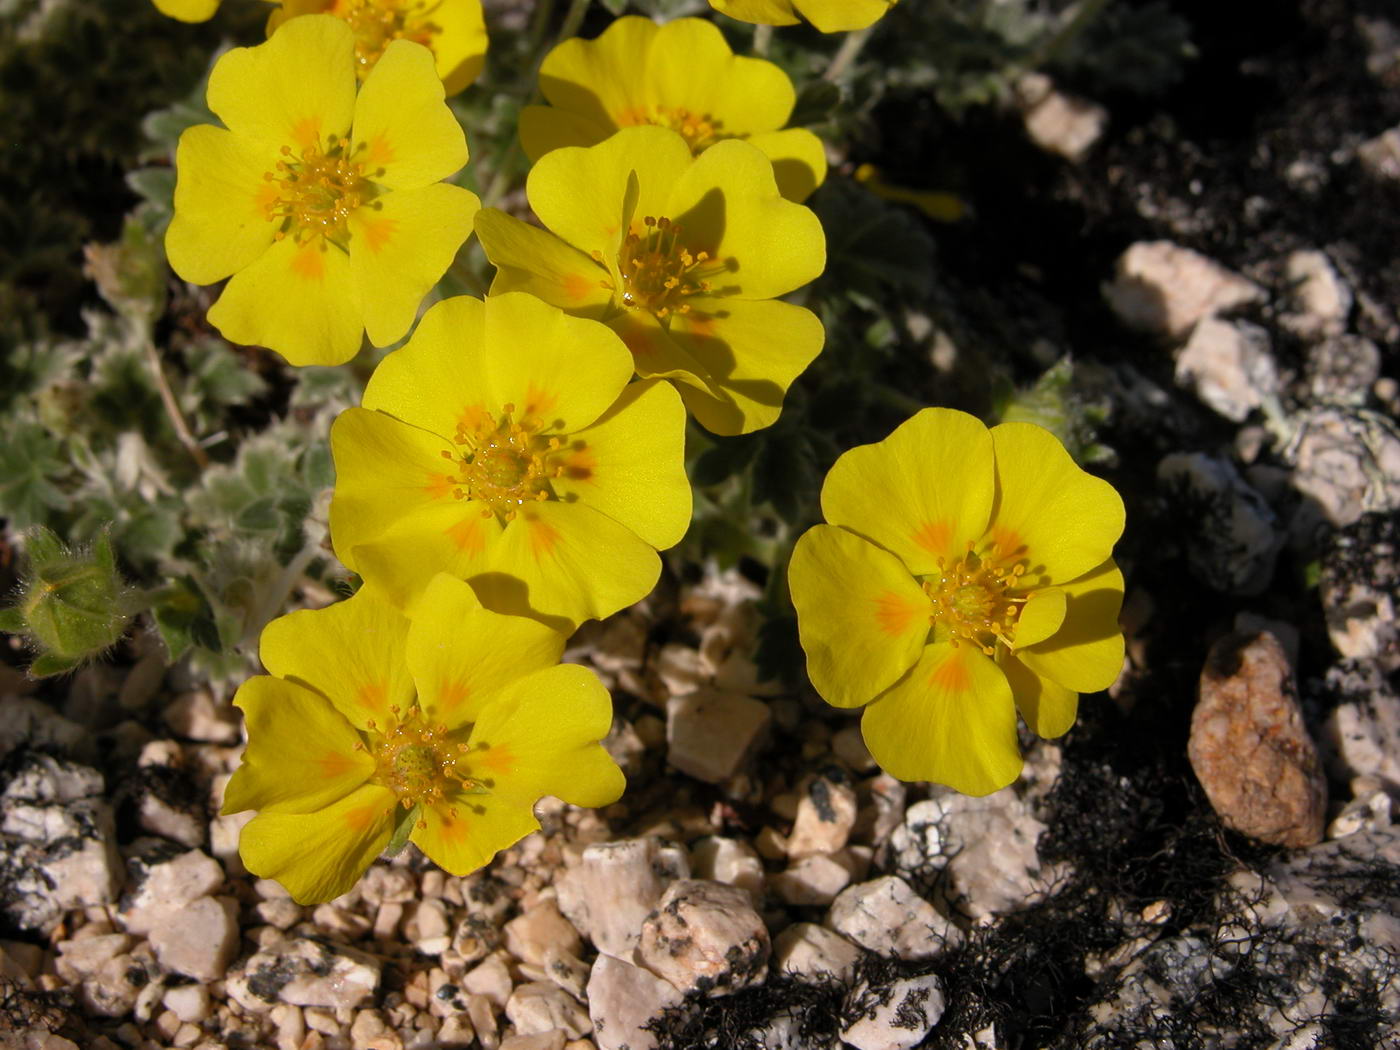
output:
[[[452,444],[442,458],[456,465],[448,483],[458,486],[459,500],[479,500],[487,505],[482,517],[493,514],[514,521],[519,507],[553,498],[552,480],[563,476],[559,462],[566,442],[559,435],[540,431],[545,424],[532,416],[514,420],[514,405],[505,405],[498,417],[480,413],[458,423]],[[574,451],[582,445],[574,442]]]

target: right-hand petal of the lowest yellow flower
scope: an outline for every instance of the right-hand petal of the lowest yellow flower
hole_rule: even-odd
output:
[[[581,806],[616,802],[623,776],[599,741],[612,728],[612,697],[588,668],[564,664],[524,675],[482,708],[468,771],[491,794],[529,806],[554,795]]]

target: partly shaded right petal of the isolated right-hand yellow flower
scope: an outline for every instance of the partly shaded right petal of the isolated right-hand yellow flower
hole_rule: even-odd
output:
[[[1064,689],[1096,693],[1123,669],[1123,573],[1107,560],[1063,585],[1070,599],[1064,626],[1039,645],[1018,650],[1030,671]]]

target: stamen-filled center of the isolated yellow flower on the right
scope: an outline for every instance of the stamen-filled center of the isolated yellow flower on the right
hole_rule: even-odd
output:
[[[997,643],[1009,647],[1029,598],[1015,594],[1022,573],[1021,561],[1002,568],[972,549],[952,564],[938,559],[938,574],[924,578],[924,594],[932,603],[928,623],[935,631],[946,630],[953,645],[966,641],[988,657]]]

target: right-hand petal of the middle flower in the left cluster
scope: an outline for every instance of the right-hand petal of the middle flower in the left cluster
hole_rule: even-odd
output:
[[[658,550],[690,526],[686,409],[668,384],[634,382],[594,426],[574,433],[554,493],[636,532]]]

